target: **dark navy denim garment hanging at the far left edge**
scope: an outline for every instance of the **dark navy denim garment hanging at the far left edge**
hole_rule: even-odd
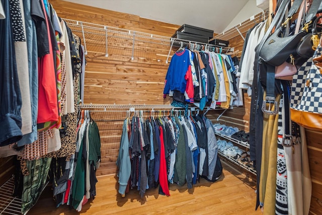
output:
[[[12,32],[12,17],[10,15],[10,1],[2,0],[6,19],[0,20],[0,146],[17,142],[22,138],[22,119],[20,116],[22,99],[19,88],[19,78]]]

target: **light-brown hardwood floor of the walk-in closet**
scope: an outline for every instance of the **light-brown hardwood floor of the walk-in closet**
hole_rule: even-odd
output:
[[[169,197],[158,189],[147,190],[143,198],[136,190],[121,197],[116,176],[99,177],[96,198],[81,212],[67,205],[56,208],[47,187],[28,214],[262,214],[255,211],[255,183],[230,165],[222,162],[223,174],[215,183],[201,179],[191,190],[171,184]]]

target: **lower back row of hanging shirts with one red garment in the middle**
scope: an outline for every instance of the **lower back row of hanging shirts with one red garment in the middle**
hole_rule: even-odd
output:
[[[204,177],[216,181],[222,172],[214,128],[204,115],[133,116],[124,120],[117,159],[119,193],[137,187],[170,195],[170,183],[188,188]],[[215,168],[216,167],[216,168]]]

